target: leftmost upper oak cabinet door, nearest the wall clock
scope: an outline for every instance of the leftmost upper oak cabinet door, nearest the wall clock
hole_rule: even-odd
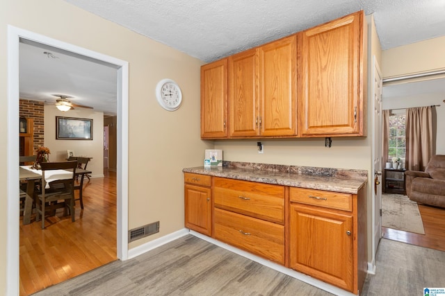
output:
[[[227,59],[201,67],[201,137],[227,137]]]

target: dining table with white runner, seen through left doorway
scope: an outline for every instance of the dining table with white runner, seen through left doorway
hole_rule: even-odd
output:
[[[56,170],[56,172],[47,172],[45,174],[46,180],[54,181],[60,179],[67,179],[72,177],[72,170]],[[76,168],[76,176],[80,176],[79,186],[74,186],[74,189],[79,189],[79,196],[82,196],[83,179],[85,175],[91,174],[92,171],[84,170],[83,168]],[[31,212],[33,211],[35,182],[42,182],[42,171],[32,169],[31,166],[19,166],[19,180],[26,182],[26,198],[24,202],[23,224],[31,223]]]

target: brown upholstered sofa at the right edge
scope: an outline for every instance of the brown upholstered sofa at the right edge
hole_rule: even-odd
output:
[[[410,200],[445,208],[445,155],[434,155],[424,172],[405,171],[406,193]]]

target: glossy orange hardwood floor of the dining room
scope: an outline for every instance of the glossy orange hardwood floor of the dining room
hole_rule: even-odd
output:
[[[78,194],[78,193],[76,193]],[[76,195],[77,198],[77,195]],[[76,201],[76,220],[46,218],[45,229],[31,217],[20,220],[20,295],[31,295],[117,259],[116,174],[83,183],[83,206]]]

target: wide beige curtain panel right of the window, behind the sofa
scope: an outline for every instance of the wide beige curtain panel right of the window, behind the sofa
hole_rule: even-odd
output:
[[[405,166],[410,171],[425,171],[432,157],[431,107],[407,108]]]

